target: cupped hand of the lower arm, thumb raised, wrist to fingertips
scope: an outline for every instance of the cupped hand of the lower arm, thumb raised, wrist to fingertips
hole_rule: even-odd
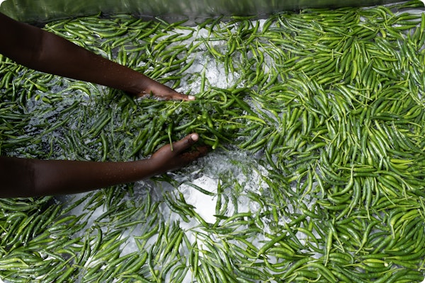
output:
[[[198,134],[189,134],[183,139],[175,141],[172,146],[171,144],[166,144],[162,146],[161,149],[158,149],[158,151],[149,158],[149,163],[151,163],[152,169],[154,170],[154,175],[174,171],[188,165],[188,163],[195,161],[201,156],[205,156],[208,152],[207,146],[198,146],[193,151],[186,151],[190,149],[198,139]]]

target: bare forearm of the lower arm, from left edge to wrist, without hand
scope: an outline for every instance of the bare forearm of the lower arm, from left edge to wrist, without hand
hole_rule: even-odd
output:
[[[0,197],[74,194],[156,175],[149,159],[91,162],[0,157],[0,169]]]

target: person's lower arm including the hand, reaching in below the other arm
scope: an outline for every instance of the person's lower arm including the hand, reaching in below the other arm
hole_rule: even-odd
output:
[[[65,195],[132,183],[186,166],[207,149],[190,149],[198,134],[167,144],[150,158],[128,162],[39,160],[0,156],[0,197]]]

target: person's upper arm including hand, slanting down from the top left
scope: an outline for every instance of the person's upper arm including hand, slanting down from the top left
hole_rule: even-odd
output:
[[[128,67],[103,58],[58,35],[0,13],[0,54],[26,67],[117,88],[136,96],[193,100]]]

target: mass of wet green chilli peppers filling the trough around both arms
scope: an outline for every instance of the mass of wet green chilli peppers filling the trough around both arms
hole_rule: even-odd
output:
[[[190,132],[214,150],[146,182],[0,200],[1,279],[424,279],[421,1],[195,26],[96,15],[44,28],[197,99],[135,99],[0,57],[2,155],[125,161]],[[220,158],[232,170],[215,168]],[[209,173],[215,187],[196,185]],[[214,221],[183,185],[214,201]]]

